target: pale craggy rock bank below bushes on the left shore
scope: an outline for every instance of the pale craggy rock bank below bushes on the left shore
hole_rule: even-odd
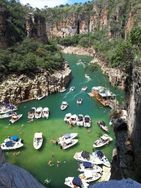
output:
[[[71,69],[64,63],[62,70],[50,73],[43,71],[35,75],[10,75],[0,83],[0,101],[20,103],[48,96],[66,87],[71,79]]]

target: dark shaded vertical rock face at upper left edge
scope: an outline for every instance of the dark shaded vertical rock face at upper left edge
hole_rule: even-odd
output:
[[[6,48],[6,12],[4,7],[0,5],[0,48]]]

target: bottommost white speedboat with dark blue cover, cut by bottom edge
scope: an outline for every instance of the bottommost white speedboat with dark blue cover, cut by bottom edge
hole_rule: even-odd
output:
[[[80,179],[79,177],[67,177],[64,184],[71,188],[88,188],[89,186],[84,179]]]

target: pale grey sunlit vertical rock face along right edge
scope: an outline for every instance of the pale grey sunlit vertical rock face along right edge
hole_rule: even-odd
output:
[[[141,151],[141,68],[132,72],[132,82],[129,92],[128,105],[129,134],[133,141],[134,152]]]

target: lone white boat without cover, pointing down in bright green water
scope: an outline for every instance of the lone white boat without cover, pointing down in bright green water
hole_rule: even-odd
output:
[[[40,149],[43,144],[43,134],[41,132],[36,132],[33,137],[33,147],[35,149]]]

